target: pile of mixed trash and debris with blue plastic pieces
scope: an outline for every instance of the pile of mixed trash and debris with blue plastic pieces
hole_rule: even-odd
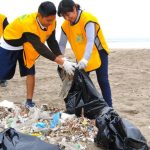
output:
[[[28,110],[5,100],[0,103],[0,129],[3,131],[7,128],[36,136],[47,143],[59,144],[66,149],[85,149],[88,142],[94,142],[98,131],[95,121],[84,116],[77,118],[74,114],[48,105]]]

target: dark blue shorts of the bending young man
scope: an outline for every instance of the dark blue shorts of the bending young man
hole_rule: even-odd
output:
[[[21,77],[35,74],[35,66],[28,69],[24,65],[23,50],[6,50],[0,47],[0,80],[9,80],[14,76],[17,61]]]

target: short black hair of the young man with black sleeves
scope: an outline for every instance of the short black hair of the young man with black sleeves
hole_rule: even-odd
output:
[[[56,15],[56,7],[52,2],[46,1],[40,4],[38,13],[40,13],[42,17]]]

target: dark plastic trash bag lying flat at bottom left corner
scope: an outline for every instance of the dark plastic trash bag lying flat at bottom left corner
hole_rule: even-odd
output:
[[[0,150],[60,150],[58,145],[48,144],[39,138],[22,134],[13,128],[0,133]]]

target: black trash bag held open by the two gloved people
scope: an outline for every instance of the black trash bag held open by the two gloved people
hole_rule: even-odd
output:
[[[59,68],[60,78],[62,78],[61,71]],[[89,119],[95,119],[105,107],[108,107],[88,74],[79,69],[75,70],[71,88],[64,101],[67,113],[80,117],[83,110],[84,117]]]

